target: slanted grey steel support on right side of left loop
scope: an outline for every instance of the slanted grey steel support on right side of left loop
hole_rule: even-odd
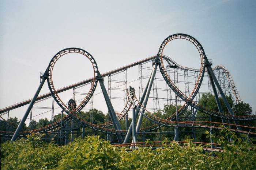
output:
[[[106,104],[108,106],[108,110],[109,110],[109,115],[110,115],[110,118],[113,122],[113,126],[114,126],[114,129],[115,130],[121,130],[121,126],[117,120],[117,116],[115,114],[115,111],[114,111],[114,108],[112,106],[112,103],[109,99],[109,96],[108,96],[108,92],[106,91],[106,87],[103,83],[103,78],[101,76],[101,74],[99,73],[98,71],[98,77],[97,77],[98,81],[99,81],[99,84],[101,85],[101,90],[102,90],[102,93],[103,93],[103,96],[104,96],[104,99],[106,101]],[[117,139],[118,139],[118,143],[123,143],[123,137],[122,135],[117,135]]]

